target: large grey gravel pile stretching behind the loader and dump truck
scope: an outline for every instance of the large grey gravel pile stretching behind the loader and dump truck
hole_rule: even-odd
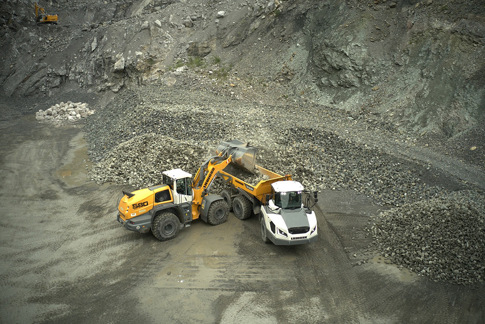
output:
[[[432,198],[442,192],[424,184],[415,172],[380,149],[361,145],[318,125],[301,126],[308,123],[306,106],[261,107],[206,92],[164,91],[169,90],[144,87],[125,91],[86,119],[88,153],[101,163],[92,170],[95,181],[130,178],[135,186],[156,183],[152,175],[133,177],[132,172],[139,174],[147,167],[137,170],[138,164],[132,162],[132,167],[127,168],[126,161],[139,160],[137,163],[158,168],[158,174],[179,167],[158,163],[172,161],[176,156],[171,153],[173,150],[152,144],[149,137],[153,135],[146,136],[155,134],[166,136],[174,150],[183,151],[186,143],[200,147],[200,155],[183,156],[194,161],[190,168],[196,169],[221,140],[238,138],[259,148],[258,165],[278,174],[291,174],[308,190],[350,188],[388,205]],[[111,170],[103,167],[108,158],[112,159]],[[119,178],[105,174],[113,169]],[[194,173],[194,169],[186,171]],[[148,173],[154,174],[151,170]],[[255,177],[247,180],[251,184],[258,182]]]

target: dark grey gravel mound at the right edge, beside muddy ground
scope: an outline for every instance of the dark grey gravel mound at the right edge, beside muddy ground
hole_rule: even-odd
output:
[[[485,277],[485,196],[457,191],[379,215],[372,237],[394,263],[458,284]]]

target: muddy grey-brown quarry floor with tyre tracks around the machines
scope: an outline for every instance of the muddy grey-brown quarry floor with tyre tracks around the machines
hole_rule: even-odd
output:
[[[115,221],[122,189],[86,174],[81,126],[0,122],[1,323],[484,323],[484,285],[361,263],[379,206],[323,191],[319,240],[264,244],[256,217],[171,241]]]

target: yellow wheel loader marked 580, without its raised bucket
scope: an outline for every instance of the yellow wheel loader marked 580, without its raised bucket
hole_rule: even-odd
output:
[[[192,174],[181,169],[162,172],[163,185],[123,191],[118,204],[117,221],[131,231],[147,233],[162,241],[177,236],[180,227],[201,218],[212,225],[226,222],[229,208],[219,195],[209,194],[218,172],[232,160],[232,156],[212,156]]]

